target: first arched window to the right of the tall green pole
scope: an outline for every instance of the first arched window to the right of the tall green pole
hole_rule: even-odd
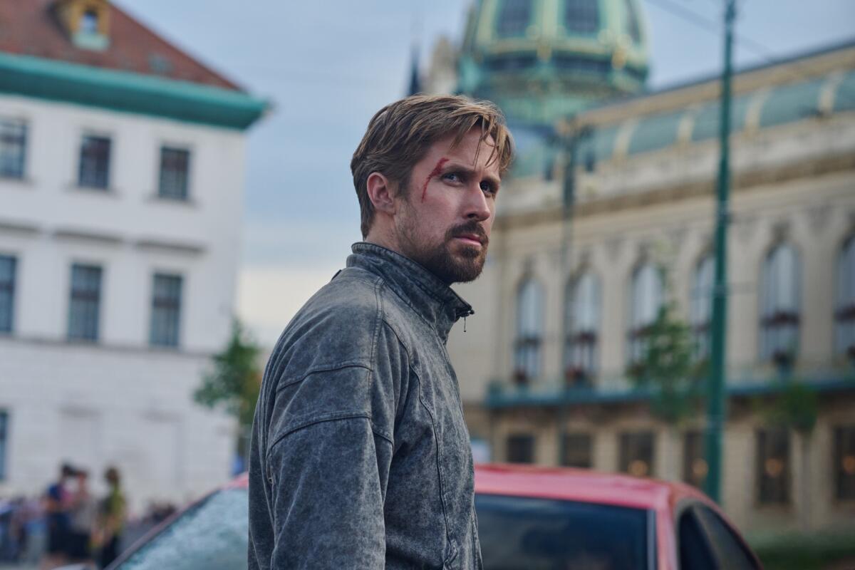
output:
[[[760,286],[760,360],[789,366],[799,350],[799,256],[792,245],[769,252]]]

